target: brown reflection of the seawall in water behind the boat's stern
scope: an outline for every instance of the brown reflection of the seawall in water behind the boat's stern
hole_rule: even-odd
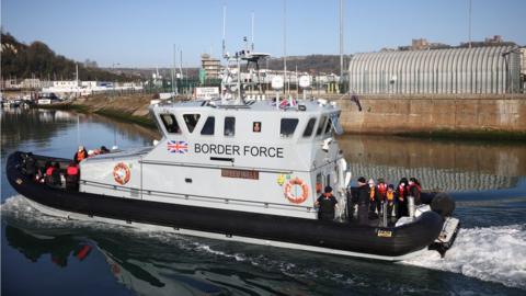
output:
[[[355,177],[419,177],[426,189],[515,187],[526,175],[526,146],[348,135],[340,145]]]

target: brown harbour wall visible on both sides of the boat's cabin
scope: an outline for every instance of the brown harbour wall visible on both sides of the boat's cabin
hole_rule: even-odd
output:
[[[345,133],[421,136],[449,133],[473,138],[504,135],[503,138],[526,139],[526,94],[357,96],[362,112],[350,95],[321,95],[342,107],[341,124]],[[148,124],[150,100],[151,94],[99,94],[77,99],[71,106]]]

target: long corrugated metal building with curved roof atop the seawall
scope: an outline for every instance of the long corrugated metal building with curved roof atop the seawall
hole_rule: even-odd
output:
[[[348,66],[356,93],[517,93],[521,54],[514,46],[356,54]]]

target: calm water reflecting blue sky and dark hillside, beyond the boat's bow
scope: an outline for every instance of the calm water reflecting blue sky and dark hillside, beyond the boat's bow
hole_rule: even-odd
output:
[[[20,148],[25,143],[33,144],[38,150],[55,149],[57,146],[75,147],[80,144],[90,148],[102,145],[111,147],[114,144],[121,146],[123,139],[126,143],[141,141],[149,145],[152,139],[160,138],[157,130],[115,122],[95,114],[35,109],[2,110],[0,114],[2,155]],[[64,137],[67,137],[67,141],[58,143]],[[75,150],[73,148],[71,153]]]

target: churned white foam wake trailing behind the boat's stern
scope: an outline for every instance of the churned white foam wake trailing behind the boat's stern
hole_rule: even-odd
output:
[[[462,228],[444,259],[435,251],[427,251],[402,264],[461,273],[526,289],[526,225]]]

